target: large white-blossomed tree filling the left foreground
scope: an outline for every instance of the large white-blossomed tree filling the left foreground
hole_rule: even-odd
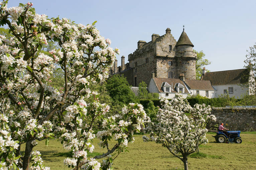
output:
[[[124,151],[146,119],[142,105],[133,103],[122,114],[105,118],[109,106],[100,103],[97,92],[89,88],[108,77],[119,50],[109,47],[111,41],[100,36],[95,23],[84,26],[66,18],[48,19],[36,14],[32,5],[8,8],[6,0],[1,2],[0,25],[7,25],[13,37],[0,36],[0,169],[48,170],[33,147],[37,140],[48,145],[49,138],[59,138],[66,149],[73,150],[73,158],[64,160],[67,166],[110,169],[111,154]],[[49,41],[58,48],[49,55],[38,53]],[[63,88],[49,86],[55,69],[63,71]],[[97,134],[92,130],[96,120],[103,122]],[[88,157],[95,137],[106,152]],[[115,141],[113,146],[110,140]],[[99,163],[97,159],[102,158]]]

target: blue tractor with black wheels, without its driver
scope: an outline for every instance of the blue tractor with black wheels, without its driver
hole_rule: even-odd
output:
[[[216,142],[218,143],[242,143],[242,139],[240,137],[241,131],[227,131],[226,135],[222,131],[217,131],[215,137]]]

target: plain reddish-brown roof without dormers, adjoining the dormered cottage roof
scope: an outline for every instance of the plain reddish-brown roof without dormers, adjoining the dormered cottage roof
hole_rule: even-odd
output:
[[[185,80],[189,89],[215,90],[209,80]]]

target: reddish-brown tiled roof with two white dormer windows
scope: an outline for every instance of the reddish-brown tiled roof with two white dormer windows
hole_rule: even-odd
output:
[[[180,79],[167,79],[167,78],[153,78],[155,84],[156,84],[156,87],[158,89],[159,92],[163,92],[163,88],[162,88],[162,84],[163,82],[166,82],[168,83],[170,86],[172,85],[172,89],[170,88],[170,92],[171,93],[176,93],[176,89],[174,88],[175,84],[176,83],[180,83],[182,86],[185,87],[185,93],[190,93],[187,88],[186,88],[186,85],[184,84],[184,82]]]

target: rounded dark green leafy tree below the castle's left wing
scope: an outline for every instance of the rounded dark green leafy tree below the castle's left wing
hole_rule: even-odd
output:
[[[138,102],[126,77],[123,75],[114,75],[110,77],[106,82],[106,89],[115,104],[123,106],[124,104]]]

